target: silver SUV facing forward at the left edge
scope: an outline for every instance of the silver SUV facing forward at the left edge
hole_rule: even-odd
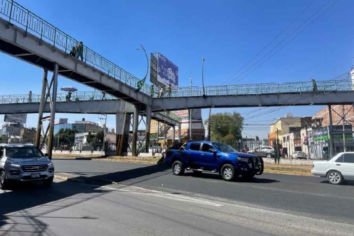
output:
[[[54,164],[31,144],[0,144],[0,189],[10,182],[42,181],[50,185]]]

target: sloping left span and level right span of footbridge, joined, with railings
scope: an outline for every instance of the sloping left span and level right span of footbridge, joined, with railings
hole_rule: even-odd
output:
[[[315,91],[311,81],[260,83],[173,88],[163,98],[158,98],[158,89],[151,91],[149,85],[142,84],[141,90],[137,91],[138,78],[86,45],[83,46],[82,60],[69,56],[71,48],[81,40],[69,36],[16,2],[3,0],[0,6],[0,51],[50,71],[54,70],[54,64],[57,63],[61,76],[138,105],[136,107],[140,111],[149,110],[146,106],[151,106],[151,110],[156,112],[193,108],[341,105],[353,102],[354,91],[349,74],[334,80],[317,81]],[[78,99],[90,101],[90,98]]]

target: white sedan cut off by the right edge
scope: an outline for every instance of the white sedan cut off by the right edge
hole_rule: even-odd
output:
[[[326,177],[332,184],[354,180],[354,152],[339,153],[329,161],[314,161],[311,173]]]

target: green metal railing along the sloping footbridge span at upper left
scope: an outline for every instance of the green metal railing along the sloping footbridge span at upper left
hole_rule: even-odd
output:
[[[14,1],[1,0],[0,15],[5,16],[5,20],[8,20],[9,25],[16,24],[24,29],[26,34],[27,32],[32,33],[40,39],[40,42],[46,41],[47,43],[52,44],[54,48],[64,51],[67,55],[70,54],[72,48],[75,48],[79,42],[79,40],[69,36]],[[109,76],[112,76],[131,87],[138,87],[140,79],[131,75],[129,72],[115,65],[113,62],[102,57],[100,54],[94,52],[85,45],[83,45],[81,60],[85,64],[100,69],[101,71],[108,73]],[[141,89],[145,93],[150,94],[149,85],[144,84]]]

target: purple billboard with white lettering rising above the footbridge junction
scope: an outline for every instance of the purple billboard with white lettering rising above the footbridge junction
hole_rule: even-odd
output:
[[[178,87],[178,67],[158,53],[157,81],[167,86]]]

